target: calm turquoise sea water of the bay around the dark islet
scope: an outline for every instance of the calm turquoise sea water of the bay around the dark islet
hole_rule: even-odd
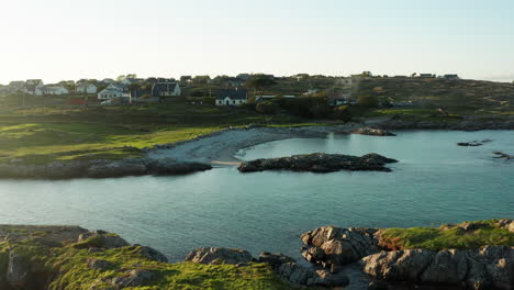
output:
[[[481,147],[457,142],[491,138]],[[267,171],[222,167],[182,177],[0,181],[0,223],[78,224],[120,233],[171,259],[200,246],[299,257],[299,236],[322,225],[414,226],[514,217],[512,131],[403,132],[271,142],[242,158],[326,152],[396,158],[392,172]]]

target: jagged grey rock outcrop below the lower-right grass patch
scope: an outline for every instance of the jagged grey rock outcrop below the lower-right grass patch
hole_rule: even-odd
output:
[[[514,247],[381,252],[361,259],[364,271],[388,281],[466,286],[468,289],[512,289]]]

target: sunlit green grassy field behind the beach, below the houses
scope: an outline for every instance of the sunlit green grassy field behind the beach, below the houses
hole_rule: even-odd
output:
[[[156,144],[190,140],[227,126],[298,125],[292,116],[187,103],[77,109],[0,110],[0,163],[118,159]]]

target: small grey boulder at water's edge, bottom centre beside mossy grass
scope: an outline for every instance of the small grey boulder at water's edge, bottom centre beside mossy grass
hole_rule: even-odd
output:
[[[250,263],[254,258],[244,249],[203,247],[192,250],[186,256],[186,261],[206,265]]]

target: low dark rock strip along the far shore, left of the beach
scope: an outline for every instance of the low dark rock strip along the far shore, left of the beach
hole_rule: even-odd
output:
[[[186,175],[211,169],[201,163],[178,163],[175,159],[126,158],[122,160],[54,161],[46,165],[0,164],[0,178],[70,179],[114,178],[125,176]]]

